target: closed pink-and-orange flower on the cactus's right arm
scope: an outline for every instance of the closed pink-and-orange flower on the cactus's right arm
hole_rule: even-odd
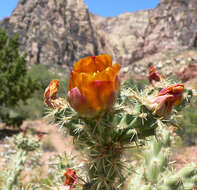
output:
[[[182,93],[184,91],[183,84],[174,84],[163,88],[157,96],[148,99],[147,107],[160,117],[167,117],[173,106],[181,103]]]

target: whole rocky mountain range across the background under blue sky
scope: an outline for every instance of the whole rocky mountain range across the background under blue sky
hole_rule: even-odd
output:
[[[161,0],[153,10],[109,18],[90,13],[83,0],[19,0],[0,28],[19,34],[21,51],[31,64],[59,64],[69,70],[81,57],[109,53],[129,65],[123,72],[145,74],[150,62],[160,68],[158,59],[197,47],[197,0]],[[173,68],[179,72],[190,64],[168,62],[162,69],[169,75]]]

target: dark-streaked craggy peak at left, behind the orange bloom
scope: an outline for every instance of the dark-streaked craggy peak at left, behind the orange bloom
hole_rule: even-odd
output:
[[[1,27],[19,34],[21,51],[27,52],[32,64],[69,69],[81,57],[111,53],[83,0],[20,0]]]

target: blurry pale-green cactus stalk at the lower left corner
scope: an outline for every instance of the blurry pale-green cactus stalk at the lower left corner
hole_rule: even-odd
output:
[[[17,135],[14,138],[14,145],[16,146],[16,154],[13,155],[13,163],[8,168],[6,173],[6,180],[3,190],[13,190],[14,186],[18,183],[18,177],[24,170],[27,160],[28,152],[34,151],[39,147],[39,140],[31,136]]]

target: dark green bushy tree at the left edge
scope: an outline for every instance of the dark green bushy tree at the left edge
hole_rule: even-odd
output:
[[[0,121],[9,126],[20,126],[26,118],[19,113],[19,101],[25,102],[38,88],[27,75],[25,54],[19,54],[17,36],[9,37],[0,30]]]

